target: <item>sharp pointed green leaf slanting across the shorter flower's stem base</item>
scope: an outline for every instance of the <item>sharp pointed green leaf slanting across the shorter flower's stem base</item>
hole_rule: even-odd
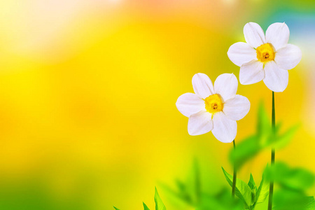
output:
[[[233,176],[228,174],[228,172],[226,172],[225,169],[223,169],[223,173],[224,173],[225,179],[228,181],[228,183],[232,187]],[[249,188],[249,186],[244,181],[237,179],[237,183],[235,187],[235,195],[237,195],[237,197],[239,197],[239,199],[244,202],[245,207],[248,209],[249,207],[251,207],[251,202],[252,202],[251,193],[252,193],[251,188]]]

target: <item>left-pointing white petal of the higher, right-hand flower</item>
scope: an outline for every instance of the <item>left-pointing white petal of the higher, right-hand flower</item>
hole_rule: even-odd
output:
[[[230,46],[228,57],[235,65],[241,66],[241,64],[257,59],[257,53],[248,43],[237,42]]]

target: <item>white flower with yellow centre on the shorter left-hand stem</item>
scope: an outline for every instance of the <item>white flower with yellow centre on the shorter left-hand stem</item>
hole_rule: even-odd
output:
[[[176,107],[188,120],[192,136],[212,131],[223,143],[232,142],[237,134],[237,122],[251,106],[248,99],[236,94],[238,81],[233,73],[223,73],[214,82],[204,73],[193,76],[194,93],[182,94]]]

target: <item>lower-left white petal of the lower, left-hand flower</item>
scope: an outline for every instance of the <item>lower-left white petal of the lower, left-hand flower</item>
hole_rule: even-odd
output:
[[[211,116],[211,113],[207,111],[200,111],[190,116],[188,120],[188,133],[196,136],[211,131],[214,128]]]

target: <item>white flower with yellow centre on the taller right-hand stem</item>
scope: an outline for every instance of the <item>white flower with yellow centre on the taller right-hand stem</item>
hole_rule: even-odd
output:
[[[239,82],[242,85],[258,83],[274,92],[283,92],[288,86],[288,70],[301,60],[302,52],[295,45],[288,44],[290,31],[283,22],[276,22],[264,31],[255,22],[244,26],[246,43],[230,46],[228,57],[240,66]]]

